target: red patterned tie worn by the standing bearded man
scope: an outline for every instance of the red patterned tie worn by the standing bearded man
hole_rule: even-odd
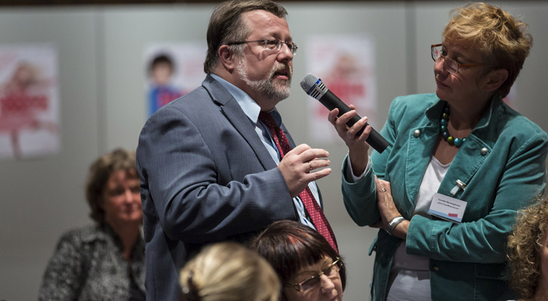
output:
[[[279,150],[279,156],[283,158],[284,155],[291,150],[286,134],[276,125],[271,114],[261,112],[259,114],[259,120],[269,127],[272,138]],[[337,241],[333,229],[329,226],[329,222],[327,222],[327,218],[325,218],[320,205],[318,205],[314,195],[312,195],[310,187],[307,186],[306,189],[299,194],[299,198],[303,201],[304,207],[306,208],[306,211],[308,211],[310,218],[312,218],[312,223],[316,226],[318,232],[327,239],[327,242],[329,242],[332,248],[338,253]]]

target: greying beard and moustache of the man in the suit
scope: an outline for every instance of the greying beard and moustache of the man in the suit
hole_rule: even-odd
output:
[[[288,80],[279,81],[279,84],[275,85],[273,82],[274,75],[281,70],[287,71]],[[249,77],[247,77],[247,59],[242,56],[240,58],[240,62],[236,65],[236,73],[243,81],[245,81],[245,83],[247,83],[247,86],[251,87],[253,90],[256,90],[256,92],[260,93],[266,99],[270,99],[272,101],[282,101],[288,98],[291,92],[292,70],[287,64],[282,64],[276,61],[269,78],[252,81]]]

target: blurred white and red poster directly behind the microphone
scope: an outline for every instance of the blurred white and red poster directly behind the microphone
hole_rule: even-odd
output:
[[[375,127],[377,82],[373,38],[361,35],[311,36],[306,44],[306,70],[347,105],[356,105],[358,115],[367,116]],[[334,142],[338,135],[327,122],[328,110],[308,99],[310,137],[316,142]]]

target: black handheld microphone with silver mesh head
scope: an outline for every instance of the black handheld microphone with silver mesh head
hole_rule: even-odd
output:
[[[351,109],[346,105],[346,103],[343,103],[333,92],[329,91],[323,81],[319,77],[316,77],[316,75],[313,75],[312,73],[308,73],[301,79],[301,88],[306,92],[306,94],[314,97],[314,99],[317,99],[320,101],[322,105],[327,107],[329,111],[332,111],[333,109],[338,109],[338,117],[341,115],[349,112]],[[347,122],[347,125],[349,127],[353,126],[354,123],[358,122],[361,117],[356,114],[351,120]],[[366,123],[356,135],[361,135],[365,129],[365,127],[368,124]],[[371,128],[371,133],[369,133],[369,137],[365,140],[371,147],[373,147],[377,152],[382,153],[386,146],[388,146],[388,141],[386,141],[379,132],[375,131],[375,129]]]

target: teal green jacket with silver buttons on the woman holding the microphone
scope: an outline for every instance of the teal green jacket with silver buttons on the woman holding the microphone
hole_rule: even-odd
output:
[[[430,259],[432,300],[507,300],[512,292],[505,280],[506,239],[516,211],[544,192],[548,135],[494,98],[438,189],[466,201],[462,223],[412,215],[439,134],[443,103],[436,94],[393,101],[380,131],[391,146],[382,154],[373,151],[372,168],[355,183],[345,179],[347,160],[343,164],[345,207],[360,226],[377,222],[373,174],[390,181],[399,212],[410,220],[406,251]],[[464,182],[465,189],[456,187],[456,180]],[[401,242],[380,230],[371,245],[369,254],[375,251],[372,300],[386,300],[390,266]]]

